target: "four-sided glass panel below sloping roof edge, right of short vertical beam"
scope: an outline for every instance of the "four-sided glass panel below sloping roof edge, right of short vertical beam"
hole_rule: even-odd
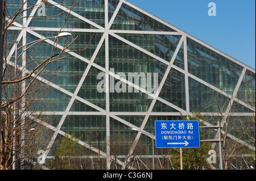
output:
[[[232,95],[242,66],[187,38],[188,71]]]

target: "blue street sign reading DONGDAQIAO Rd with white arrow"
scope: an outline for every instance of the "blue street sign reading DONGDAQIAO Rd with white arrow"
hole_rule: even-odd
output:
[[[156,148],[200,148],[199,121],[155,121]]]

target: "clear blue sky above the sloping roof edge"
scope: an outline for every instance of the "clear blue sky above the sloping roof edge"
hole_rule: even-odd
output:
[[[255,69],[255,0],[127,1]]]

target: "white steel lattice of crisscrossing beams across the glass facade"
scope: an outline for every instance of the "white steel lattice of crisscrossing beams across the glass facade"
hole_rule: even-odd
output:
[[[42,1],[38,1],[36,2],[38,5],[40,5]],[[225,118],[226,116],[228,116],[228,113],[230,111],[230,108],[232,107],[232,104],[233,102],[237,102],[239,104],[242,104],[243,106],[249,108],[250,110],[253,110],[255,111],[249,104],[243,102],[242,100],[240,99],[237,99],[236,98],[236,95],[237,95],[237,92],[238,92],[238,89],[241,85],[241,82],[242,82],[242,79],[243,77],[245,76],[245,72],[246,70],[250,70],[252,71],[253,73],[255,73],[255,70],[253,68],[250,68],[249,66],[243,64],[242,62],[228,56],[227,54],[221,52],[220,50],[217,50],[213,47],[210,47],[210,45],[204,43],[203,41],[201,40],[198,40],[196,39],[195,37],[189,35],[188,33],[184,32],[184,31],[181,31],[179,30],[178,28],[172,26],[171,24],[167,23],[167,22],[164,22],[162,19],[159,19],[157,18],[156,16],[140,9],[139,7],[131,4],[130,2],[128,1],[125,1],[125,0],[119,0],[119,3],[114,11],[114,14],[113,16],[110,18],[109,20],[109,13],[108,13],[108,0],[105,0],[105,27],[102,27],[100,25],[98,25],[97,23],[94,23],[92,22],[91,20],[89,19],[86,19],[84,16],[81,16],[79,14],[77,14],[76,12],[72,11],[72,10],[69,10],[67,7],[64,7],[63,5],[60,5],[59,3],[55,2],[55,1],[52,1],[52,0],[49,0],[48,3],[51,3],[52,5],[56,6],[57,8],[63,10],[63,11],[66,11],[66,12],[69,12],[72,16],[75,16],[76,18],[82,20],[83,22],[85,23],[89,23],[90,25],[94,26],[95,29],[79,29],[79,28],[72,28],[72,29],[69,29],[69,28],[63,28],[60,30],[60,28],[46,28],[46,27],[28,27],[31,19],[33,18],[33,16],[35,15],[35,12],[38,8],[38,6],[36,6],[31,14],[28,16],[29,18],[24,18],[24,21],[23,21],[23,24],[19,24],[17,22],[13,23],[14,26],[11,26],[9,29],[10,30],[20,30],[20,34],[19,36],[17,37],[16,41],[20,41],[21,39],[24,40],[25,44],[26,44],[26,33],[31,33],[32,35],[38,37],[39,39],[44,39],[45,37],[43,37],[42,35],[40,35],[38,32],[39,31],[52,31],[52,32],[59,32],[59,31],[69,31],[69,32],[101,32],[103,33],[102,37],[101,37],[101,40],[100,42],[98,43],[97,45],[97,48],[95,49],[94,53],[93,53],[93,56],[92,58],[90,58],[90,60],[80,56],[79,54],[75,53],[75,52],[68,52],[70,54],[70,56],[74,56],[76,58],[78,58],[79,60],[81,61],[84,61],[86,62],[86,64],[88,64],[88,66],[86,67],[86,69],[84,70],[84,73],[80,79],[80,82],[79,84],[77,85],[76,89],[74,92],[71,92],[71,91],[68,91],[66,89],[64,89],[63,87],[60,87],[58,85],[56,85],[55,83],[52,83],[51,81],[45,79],[45,78],[42,78],[42,77],[37,77],[37,79],[39,81],[42,81],[42,82],[45,82],[47,83],[47,85],[49,86],[52,86],[53,88],[55,88],[56,90],[59,90],[61,92],[63,92],[64,94],[67,94],[69,96],[71,96],[71,99],[69,100],[69,103],[68,103],[68,106],[66,107],[65,111],[58,111],[58,112],[54,112],[55,115],[61,115],[61,119],[59,121],[59,124],[57,125],[57,127],[53,127],[52,125],[48,125],[47,123],[44,123],[43,121],[40,121],[38,120],[38,122],[40,124],[44,124],[47,128],[51,129],[54,134],[51,138],[51,141],[49,142],[48,144],[48,148],[51,148],[51,145],[53,144],[53,142],[55,141],[56,137],[57,137],[57,134],[61,134],[61,135],[65,135],[66,133],[64,131],[61,131],[61,127],[65,121],[65,119],[67,118],[68,115],[105,115],[106,116],[106,153],[104,151],[101,151],[100,154],[101,156],[105,157],[107,159],[107,169],[110,169],[110,163],[113,161],[112,160],[112,155],[110,155],[110,117],[112,117],[113,119],[125,124],[127,127],[130,127],[130,128],[136,128],[138,129],[139,131],[144,131],[144,127],[148,121],[148,117],[151,116],[151,115],[168,115],[168,116],[171,116],[171,115],[175,115],[175,116],[179,116],[180,115],[180,112],[183,114],[183,115],[189,115],[191,114],[191,110],[189,110],[189,87],[188,87],[188,78],[192,78],[192,79],[195,79],[196,81],[202,83],[203,85],[209,87],[210,89],[220,93],[221,95],[224,95],[228,98],[230,98],[230,103],[229,103],[229,106],[226,108],[226,111],[225,111],[225,115],[222,115],[224,118],[222,119],[221,121],[221,125],[223,125],[225,123]],[[130,31],[130,30],[110,30],[110,27],[112,26],[114,20],[115,20],[115,17],[117,16],[118,14],[118,11],[119,9],[121,8],[122,4],[125,3],[127,6],[130,6],[132,7],[133,9],[135,10],[138,10],[139,12],[142,12],[143,14],[146,14],[147,16],[150,16],[152,19],[155,19],[156,21],[164,24],[165,26],[167,27],[170,27],[172,28],[172,30],[175,30],[175,32],[166,32],[166,31]],[[25,8],[25,7],[24,7]],[[26,17],[26,14],[24,14],[24,17]],[[120,33],[130,33],[130,34],[146,34],[146,35],[180,35],[181,36],[181,39],[179,40],[179,43],[177,44],[177,47],[175,49],[175,52],[174,52],[174,55],[172,56],[172,59],[171,61],[167,61],[167,60],[164,60],[163,58],[159,57],[159,56],[156,56],[155,54],[151,53],[151,52],[148,52],[148,50],[142,48],[142,47],[139,47],[138,45],[132,43],[131,41],[119,36],[118,34]],[[156,60],[162,62],[163,64],[167,65],[167,69],[166,69],[166,72],[164,73],[163,75],[163,78],[162,78],[162,81],[160,82],[160,85],[158,87],[158,91],[156,91],[156,94],[152,94],[151,92],[148,92],[147,90],[144,90],[142,87],[139,87],[137,85],[135,85],[133,82],[129,82],[127,79],[124,79],[122,77],[120,77],[119,75],[113,73],[112,71],[110,71],[109,69],[109,36],[113,36],[115,37],[116,39],[118,40],[121,40],[123,43],[126,43],[128,45],[130,45],[131,47],[143,52],[144,54],[147,54],[148,56],[152,57],[152,58],[155,58]],[[192,75],[191,73],[188,72],[188,58],[187,58],[187,37],[189,37],[189,39],[192,39],[194,41],[196,41],[197,43],[200,43],[202,45],[204,45],[205,47],[213,50],[214,52],[218,53],[218,54],[221,54],[222,56],[228,58],[229,60],[232,60],[233,62],[235,62],[236,64],[240,65],[243,67],[243,70],[242,70],[242,73],[240,75],[240,78],[237,82],[237,85],[236,85],[236,88],[234,89],[233,91],[233,94],[230,95],[228,92],[225,92],[221,89],[218,89],[216,86],[214,85],[210,85],[210,83],[208,82],[205,82],[203,79],[200,79],[198,77],[196,77],[195,75]],[[54,43],[53,41],[51,40],[45,40],[47,43],[53,45],[55,44],[55,46],[59,49],[63,49],[63,47],[59,44],[56,45],[56,43]],[[105,42],[105,44],[104,44]],[[183,44],[184,46],[184,70],[177,67],[176,65],[174,65],[174,61],[175,61],[175,58],[177,56],[177,53],[179,52],[180,50],[180,47],[181,47],[181,44]],[[97,65],[96,63],[94,63],[94,60],[99,52],[99,50],[101,49],[102,45],[105,45],[105,68],[100,66],[100,65]],[[12,56],[12,54],[14,53],[14,50],[15,50],[15,47],[11,48],[11,53],[9,55],[9,57],[6,58],[7,60],[7,63],[11,66],[15,66],[13,62],[10,61],[10,57]],[[95,104],[89,102],[88,100],[84,99],[84,98],[81,98],[80,96],[78,96],[78,93],[81,89],[81,86],[82,84],[84,83],[85,81],[85,77],[86,75],[88,74],[90,68],[97,68],[98,70],[101,70],[102,72],[104,72],[106,74],[106,108],[105,109],[102,109],[101,107],[98,107],[96,106]],[[24,70],[23,67],[19,67],[18,68],[20,70]],[[185,110],[183,108],[180,108],[178,106],[176,106],[175,104],[172,104],[171,102],[168,102],[167,100],[164,100],[163,98],[160,98],[159,97],[159,93],[164,85],[164,83],[166,82],[166,79],[167,79],[167,75],[170,73],[170,70],[171,69],[175,69],[177,71],[180,71],[181,73],[183,73],[185,75],[185,99],[186,99],[186,104],[185,104]],[[24,70],[26,73],[29,73],[30,71],[29,70]],[[32,76],[35,76],[35,74],[32,74]],[[132,86],[134,87],[134,89],[138,89],[140,90],[141,92],[143,92],[144,94],[148,95],[148,96],[151,96],[153,99],[152,99],[152,102],[150,104],[150,107],[148,108],[147,112],[111,112],[110,109],[109,109],[109,77],[112,76],[114,77],[115,79],[118,79],[119,81],[122,81],[124,83],[126,83],[127,85],[129,86]],[[73,103],[75,100],[79,100],[80,102],[94,108],[95,110],[97,111],[94,111],[94,112],[75,112],[75,111],[70,111]],[[160,101],[162,102],[163,104],[167,104],[167,106],[170,106],[172,108],[174,108],[175,110],[177,110],[176,112],[152,112],[152,109],[154,108],[154,105],[156,103],[156,101]],[[29,112],[28,112],[29,113]],[[49,115],[49,114],[52,114],[53,112],[40,112],[41,115],[45,114],[45,115]],[[34,115],[36,115],[37,112],[34,112]],[[209,113],[209,112],[204,112],[203,113],[204,115],[220,115],[220,113],[216,112],[216,113]],[[129,121],[126,121],[125,119],[122,119],[120,116],[121,115],[135,115],[135,116],[144,116],[144,119],[142,121],[142,124],[138,127],[134,124],[131,124],[129,123]],[[250,116],[250,115],[254,115],[254,113],[233,113],[234,116]],[[31,115],[31,117],[33,117]],[[205,123],[205,125],[210,125],[210,123]],[[145,132],[145,131],[144,131]],[[146,132],[147,133],[147,132]],[[222,132],[224,133],[224,132]],[[139,138],[141,137],[141,134],[142,132],[138,132],[137,133],[137,136],[133,142],[133,146],[130,150],[130,153],[133,152],[133,148],[135,148]],[[149,134],[149,133],[148,133]],[[146,135],[147,136],[147,135]],[[232,136],[230,134],[228,134],[228,136],[230,138],[232,138],[233,140],[237,140],[238,138],[235,137],[235,136]],[[240,140],[240,143],[243,144],[243,145],[246,145],[247,147],[249,147],[250,149],[253,149],[255,150],[255,147],[254,146],[251,146],[249,144],[247,144],[246,142]],[[97,152],[98,149],[96,148],[93,148],[92,146],[86,144],[85,142],[83,141],[79,141],[79,144],[81,144],[82,146],[85,146],[86,148],[88,149],[91,149],[92,151],[95,151]],[[214,148],[215,144],[212,144],[212,147]],[[46,153],[43,155],[43,160],[46,159],[47,157],[47,154],[49,152],[49,149],[48,151],[46,151]],[[124,165],[123,162],[121,161],[118,161],[118,163],[120,165]]]

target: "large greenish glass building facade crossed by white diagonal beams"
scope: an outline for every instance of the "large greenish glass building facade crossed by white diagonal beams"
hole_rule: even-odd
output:
[[[19,9],[20,1],[6,0],[6,4],[10,16]],[[139,151],[137,162],[141,167],[135,163],[133,167],[151,168],[155,120],[180,120],[180,113],[189,115],[198,110],[207,115],[205,125],[221,121],[225,126],[227,117],[246,122],[255,115],[255,69],[129,1],[26,3],[26,7],[32,6],[20,14],[24,19],[9,28],[10,39],[20,47],[56,36],[59,31],[72,36],[47,39],[27,49],[26,58],[34,58],[23,58],[26,71],[78,37],[69,47],[74,51],[61,55],[36,77],[48,91],[38,99],[31,115],[49,116],[54,121],[44,123],[49,131],[49,149],[43,155],[46,161],[54,155],[54,149],[50,149],[53,143],[74,133],[82,136],[79,144],[92,162],[97,161],[100,143],[102,168],[124,168],[127,155],[135,150]],[[14,48],[10,50],[13,56],[8,61],[13,65]],[[139,81],[129,79],[134,73]],[[229,139],[239,140],[248,153],[254,150],[255,154],[255,136],[254,140],[249,136],[240,139],[240,122],[233,122],[237,124],[229,131]],[[216,134],[212,131],[206,138],[213,139]],[[212,149],[217,150],[216,144]],[[154,151],[158,168],[161,159],[171,160],[168,150]]]

